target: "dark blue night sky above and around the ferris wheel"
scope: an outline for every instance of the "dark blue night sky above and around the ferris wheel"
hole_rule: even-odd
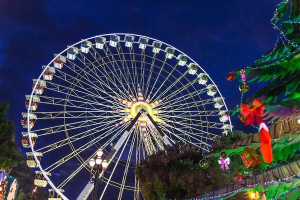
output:
[[[8,118],[15,124],[21,147],[20,112],[32,78],[41,65],[82,38],[127,32],[157,38],[180,49],[210,75],[229,108],[240,100],[239,83],[228,82],[228,71],[250,65],[271,49],[276,31],[269,24],[276,0],[18,0],[0,5],[0,101],[9,103]],[[245,96],[261,84],[250,83]],[[253,132],[237,117],[235,129]],[[88,175],[73,179],[75,199]],[[70,186],[67,186],[70,187]],[[126,199],[123,196],[123,199]],[[131,199],[131,198],[127,198]]]

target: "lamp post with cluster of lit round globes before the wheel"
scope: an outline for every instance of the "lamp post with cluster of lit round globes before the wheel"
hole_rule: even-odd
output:
[[[94,188],[93,188],[93,192],[92,192],[92,200],[96,200],[96,198],[97,198],[98,184],[103,182],[104,171],[107,166],[106,159],[104,159],[103,161],[101,159],[102,154],[103,154],[103,151],[101,149],[99,149],[99,150],[97,150],[97,158],[96,159],[91,158],[89,160],[89,166],[90,166],[89,179],[91,179],[92,169],[93,169],[94,165],[96,164],[96,170],[95,170],[95,174],[94,174],[95,178],[93,180]],[[102,175],[99,178],[101,170],[102,170]]]

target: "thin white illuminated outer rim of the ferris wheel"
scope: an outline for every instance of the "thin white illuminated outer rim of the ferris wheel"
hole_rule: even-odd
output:
[[[190,59],[193,63],[197,64],[193,59],[191,59],[188,55],[186,55],[185,53],[183,53],[183,52],[180,51],[179,49],[177,49],[177,48],[173,47],[172,45],[169,45],[169,44],[167,44],[167,43],[165,43],[165,42],[163,42],[163,41],[160,41],[160,40],[158,40],[158,39],[154,39],[154,38],[151,38],[151,37],[148,37],[148,36],[138,35],[138,34],[131,34],[131,33],[109,33],[109,34],[96,35],[96,36],[93,36],[93,37],[89,37],[89,38],[86,38],[86,39],[82,39],[81,41],[78,41],[78,42],[74,43],[73,45],[68,46],[67,48],[65,48],[64,50],[62,50],[59,54],[57,54],[57,55],[56,55],[56,56],[55,56],[55,57],[54,57],[47,65],[46,65],[46,67],[42,70],[41,74],[38,76],[37,81],[35,82],[35,84],[34,84],[34,86],[33,86],[33,89],[32,89],[32,92],[31,92],[30,98],[29,98],[29,104],[32,102],[32,96],[34,95],[34,90],[35,90],[36,86],[38,85],[38,82],[39,82],[39,80],[41,79],[43,73],[47,70],[47,68],[50,66],[50,64],[51,64],[57,57],[59,57],[62,53],[64,53],[65,51],[67,51],[70,47],[74,47],[75,45],[80,44],[82,41],[94,39],[94,38],[96,38],[96,37],[104,37],[104,36],[110,36],[110,35],[133,35],[133,36],[139,36],[139,37],[151,39],[151,40],[153,40],[153,41],[160,42],[160,43],[162,43],[162,44],[164,44],[164,45],[166,45],[166,46],[169,46],[169,47],[175,49],[176,51],[178,51],[178,52],[182,53],[183,55],[185,55],[185,56],[186,56],[188,59]],[[120,41],[120,42],[124,42],[125,40],[119,40],[119,41]],[[109,42],[109,41],[105,41],[105,42]],[[137,41],[132,41],[132,43],[138,43],[138,42],[137,42]],[[146,44],[146,45],[147,45],[147,46],[150,46],[149,44]],[[207,76],[207,78],[213,83],[214,88],[217,90],[218,94],[220,95],[220,98],[222,99],[222,102],[224,103],[224,106],[225,106],[225,108],[226,108],[226,110],[227,110],[227,106],[226,106],[226,104],[225,104],[225,102],[224,102],[224,99],[223,99],[223,97],[222,97],[222,95],[221,95],[219,89],[218,89],[217,86],[215,85],[214,81],[210,78],[210,76],[205,72],[205,70],[204,70],[199,64],[197,64],[197,66],[205,73],[205,75]],[[30,114],[31,112],[32,112],[32,110],[30,110],[30,107],[28,107],[28,109],[27,109],[27,116],[29,116],[29,114]],[[229,126],[229,127],[230,127],[230,130],[232,130],[230,117],[228,117],[228,119],[229,119],[229,123],[230,123],[230,126]],[[30,127],[29,127],[29,120],[27,120],[27,131],[28,131],[28,132],[31,132],[31,129],[30,129]],[[30,148],[31,148],[33,157],[34,157],[35,160],[38,160],[37,157],[36,157],[36,152],[34,151],[33,145],[32,145],[32,143],[31,143],[32,141],[31,141],[31,136],[30,136],[30,134],[29,134],[29,136],[28,136],[28,139],[29,139],[29,145],[30,145]],[[55,189],[55,191],[61,196],[61,198],[67,199],[67,198],[60,192],[60,189],[57,189],[57,188],[55,187],[55,185],[51,182],[51,180],[50,180],[49,177],[47,176],[47,172],[45,172],[45,171],[42,169],[42,167],[41,167],[41,165],[40,165],[39,162],[37,162],[37,165],[38,165],[38,167],[39,167],[41,173],[44,175],[45,179],[48,181],[49,185],[50,185],[53,189]]]

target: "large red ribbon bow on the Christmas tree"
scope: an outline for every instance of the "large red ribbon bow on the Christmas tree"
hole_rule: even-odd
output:
[[[259,125],[263,122],[261,114],[263,114],[262,103],[254,99],[251,106],[240,104],[240,113],[243,117],[247,117],[245,125],[254,125],[254,116],[256,116],[256,123]]]

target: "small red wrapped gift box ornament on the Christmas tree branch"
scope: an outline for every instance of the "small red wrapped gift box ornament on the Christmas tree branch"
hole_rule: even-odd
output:
[[[257,168],[261,164],[261,159],[255,149],[244,148],[240,157],[247,168]]]

